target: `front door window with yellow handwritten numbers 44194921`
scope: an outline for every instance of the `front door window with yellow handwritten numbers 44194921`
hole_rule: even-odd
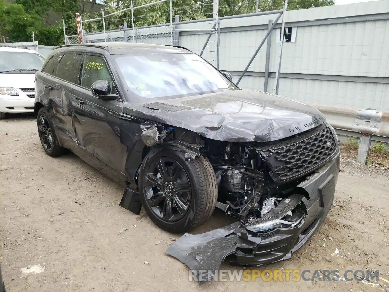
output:
[[[117,94],[104,58],[102,56],[86,55],[84,68],[82,69],[81,86],[90,89],[91,85],[98,80],[108,80],[111,84],[111,93]]]

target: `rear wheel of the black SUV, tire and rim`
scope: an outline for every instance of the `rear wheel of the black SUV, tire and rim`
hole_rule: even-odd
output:
[[[58,157],[67,152],[60,146],[54,131],[53,121],[46,109],[42,107],[37,116],[38,134],[43,150],[51,157]]]

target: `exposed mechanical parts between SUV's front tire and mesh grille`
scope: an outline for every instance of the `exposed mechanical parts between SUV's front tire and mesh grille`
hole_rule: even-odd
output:
[[[280,209],[289,202],[287,197],[301,180],[282,185],[275,182],[269,175],[271,170],[258,155],[254,145],[212,142],[208,145],[207,153],[215,169],[219,188],[216,207],[227,216],[239,216],[243,225],[251,225],[263,221],[261,218],[265,219],[272,209]],[[299,209],[298,214],[301,212]],[[295,218],[292,210],[284,217],[284,223],[288,218],[292,222]]]

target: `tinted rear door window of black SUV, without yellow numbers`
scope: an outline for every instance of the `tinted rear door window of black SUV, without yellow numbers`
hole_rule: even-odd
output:
[[[56,76],[70,83],[78,84],[80,78],[81,63],[82,55],[63,55],[60,63],[58,64]]]

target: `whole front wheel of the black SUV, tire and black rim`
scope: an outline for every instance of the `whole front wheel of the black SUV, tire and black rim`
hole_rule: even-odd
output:
[[[160,148],[140,165],[139,194],[152,222],[168,232],[186,232],[207,220],[217,200],[215,172],[202,155]]]

